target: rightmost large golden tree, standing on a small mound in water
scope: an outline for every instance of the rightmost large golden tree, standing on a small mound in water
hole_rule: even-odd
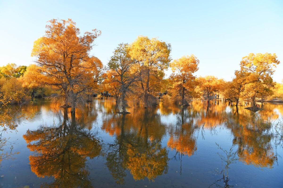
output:
[[[272,95],[272,88],[275,83],[271,76],[279,63],[276,54],[269,53],[251,53],[242,58],[241,71],[248,74],[244,94],[246,98],[251,98],[252,107],[256,105],[256,98]]]

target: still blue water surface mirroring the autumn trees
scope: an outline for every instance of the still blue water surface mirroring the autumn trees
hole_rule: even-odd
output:
[[[43,99],[23,107],[28,119],[3,134],[19,154],[2,161],[0,187],[283,186],[282,104],[160,103],[126,115],[114,98],[88,105],[75,116]]]

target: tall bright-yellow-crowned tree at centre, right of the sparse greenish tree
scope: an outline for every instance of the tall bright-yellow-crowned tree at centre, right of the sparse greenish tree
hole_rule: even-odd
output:
[[[139,36],[129,47],[129,55],[138,61],[140,72],[140,95],[145,108],[156,104],[154,97],[160,91],[164,69],[168,68],[171,45],[156,38]]]

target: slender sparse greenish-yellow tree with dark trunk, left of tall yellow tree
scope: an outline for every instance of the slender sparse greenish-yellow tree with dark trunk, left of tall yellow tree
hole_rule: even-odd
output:
[[[131,87],[139,80],[139,72],[134,69],[136,61],[131,59],[128,54],[128,44],[119,44],[114,50],[108,62],[108,67],[111,74],[110,80],[116,82],[119,88],[119,106],[122,108],[123,114],[129,113],[126,111],[127,101],[126,97],[129,93],[133,93]]]

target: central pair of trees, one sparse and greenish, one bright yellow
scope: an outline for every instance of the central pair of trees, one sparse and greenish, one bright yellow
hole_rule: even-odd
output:
[[[127,99],[136,98],[145,108],[157,104],[164,69],[169,66],[171,46],[156,38],[139,36],[132,44],[119,44],[113,52],[106,72],[106,88],[113,92],[126,113]],[[114,91],[116,90],[116,91]],[[129,95],[130,94],[130,95]]]

